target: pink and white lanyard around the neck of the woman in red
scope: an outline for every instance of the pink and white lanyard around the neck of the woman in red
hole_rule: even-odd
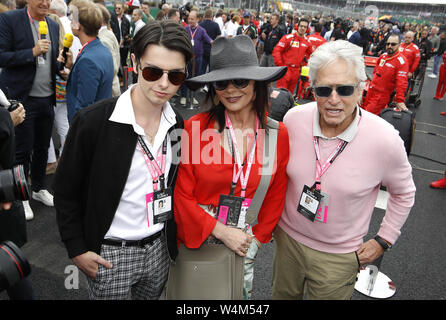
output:
[[[235,153],[236,156],[235,159],[236,163],[234,164],[234,169],[232,171],[232,184],[231,184],[230,195],[234,194],[235,186],[237,185],[237,181],[240,179],[240,185],[242,187],[241,197],[244,198],[246,193],[246,186],[248,185],[249,174],[251,173],[252,163],[254,162],[255,147],[257,142],[257,131],[259,129],[259,118],[256,117],[256,134],[252,142],[251,149],[249,151],[248,167],[246,168],[245,174],[243,174],[243,167],[245,166],[246,161],[242,163],[242,159],[240,157],[240,152],[238,149],[237,139],[235,138],[234,128],[232,126],[231,119],[229,119],[229,116],[226,112],[225,112],[225,119],[226,119],[226,126],[229,131],[228,140],[231,142],[229,143],[229,147],[231,148],[231,154],[234,156]],[[235,152],[233,152],[233,150]]]

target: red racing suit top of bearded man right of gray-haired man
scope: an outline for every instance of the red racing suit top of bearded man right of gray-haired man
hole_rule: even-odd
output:
[[[398,52],[389,57],[384,53],[376,62],[370,88],[388,95],[396,90],[395,101],[404,102],[408,72],[409,64],[403,54]]]

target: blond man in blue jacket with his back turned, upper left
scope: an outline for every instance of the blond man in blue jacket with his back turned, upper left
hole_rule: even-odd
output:
[[[114,69],[110,50],[97,38],[102,26],[101,10],[86,0],[73,0],[70,5],[79,12],[79,21],[73,20],[72,30],[82,44],[76,63],[73,65],[69,55],[66,64],[71,69],[67,82],[68,122],[71,123],[80,109],[112,97]]]

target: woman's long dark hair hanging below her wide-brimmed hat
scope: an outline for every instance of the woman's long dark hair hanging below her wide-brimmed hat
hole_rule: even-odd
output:
[[[209,113],[206,126],[208,126],[212,120],[215,120],[215,122],[218,124],[218,131],[221,133],[226,126],[225,106],[223,103],[221,103],[221,101],[216,103],[217,94],[214,86],[212,84],[208,84],[208,87],[209,89],[205,102],[210,102],[211,107],[206,111]],[[259,118],[259,127],[260,129],[268,130],[266,126],[266,114],[268,113],[270,106],[268,83],[265,81],[255,81],[254,92],[256,94],[256,98],[253,102],[253,108],[256,111],[257,117]]]

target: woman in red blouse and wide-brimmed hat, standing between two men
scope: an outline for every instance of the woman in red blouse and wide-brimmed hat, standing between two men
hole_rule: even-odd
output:
[[[194,89],[208,85],[212,106],[185,122],[174,196],[178,240],[199,250],[203,244],[220,243],[244,257],[245,299],[251,295],[257,250],[271,240],[284,205],[288,133],[282,123],[267,118],[267,111],[268,84],[285,73],[286,67],[259,67],[252,40],[240,35],[216,39],[210,72],[188,80]],[[276,138],[271,140],[272,133]],[[266,144],[268,138],[271,143]],[[273,146],[275,157],[268,159],[264,149]],[[262,182],[263,194],[254,197],[267,165],[272,168],[270,180]],[[251,224],[245,219],[248,208],[258,214]],[[193,298],[202,297],[200,290],[206,299],[223,297],[221,288],[212,294],[206,288],[208,280],[220,275],[204,273]]]

